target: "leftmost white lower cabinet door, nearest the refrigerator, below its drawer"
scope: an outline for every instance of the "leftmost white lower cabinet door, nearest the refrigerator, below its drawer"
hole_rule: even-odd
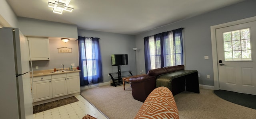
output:
[[[51,80],[33,82],[33,102],[52,98]]]

